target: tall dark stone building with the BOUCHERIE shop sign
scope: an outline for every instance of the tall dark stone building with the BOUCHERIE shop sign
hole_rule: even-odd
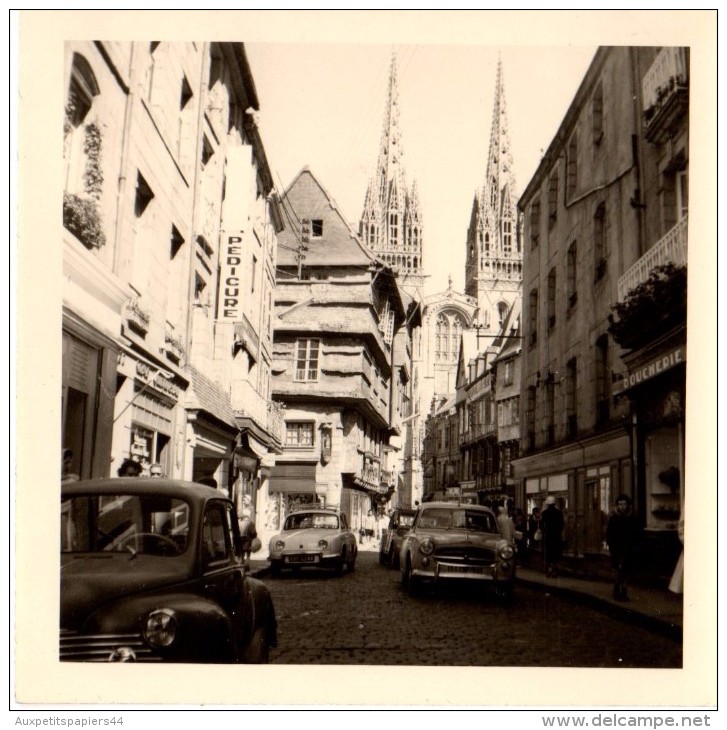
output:
[[[650,567],[665,574],[678,551],[679,480],[672,488],[659,475],[683,473],[685,308],[676,294],[657,305],[670,313],[663,331],[632,319],[638,342],[614,328],[613,308],[658,264],[686,263],[687,99],[683,49],[600,48],[520,199],[520,499],[532,508],[555,496],[567,557],[595,571],[607,564],[606,521],[621,492],[634,498],[645,543],[660,545],[646,548]],[[654,367],[650,383],[631,383],[669,357],[658,378]]]

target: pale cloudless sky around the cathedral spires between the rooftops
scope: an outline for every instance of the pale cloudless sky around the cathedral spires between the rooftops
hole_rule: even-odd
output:
[[[308,166],[358,230],[376,165],[392,52],[407,181],[424,216],[425,294],[464,288],[472,201],[487,166],[498,59],[517,194],[537,169],[595,46],[246,43],[278,190]]]

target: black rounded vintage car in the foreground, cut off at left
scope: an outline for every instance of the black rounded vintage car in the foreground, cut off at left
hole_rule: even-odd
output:
[[[277,625],[233,503],[158,478],[61,485],[60,659],[267,663]]]

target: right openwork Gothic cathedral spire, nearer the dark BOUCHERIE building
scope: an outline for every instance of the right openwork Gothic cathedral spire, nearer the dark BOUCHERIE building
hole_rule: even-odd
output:
[[[487,174],[467,230],[465,293],[477,300],[479,324],[497,334],[522,296],[523,251],[502,61],[497,64]]]

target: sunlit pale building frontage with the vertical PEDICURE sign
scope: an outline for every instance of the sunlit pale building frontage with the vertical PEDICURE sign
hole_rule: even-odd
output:
[[[115,476],[130,457],[144,473],[159,462],[169,477],[252,492],[281,435],[268,400],[282,219],[244,46],[73,42],[65,64],[72,471]],[[219,275],[233,236],[239,286]]]

